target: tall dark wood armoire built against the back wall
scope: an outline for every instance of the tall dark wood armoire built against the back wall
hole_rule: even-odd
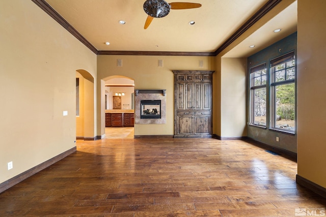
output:
[[[212,136],[212,73],[173,70],[174,137]]]

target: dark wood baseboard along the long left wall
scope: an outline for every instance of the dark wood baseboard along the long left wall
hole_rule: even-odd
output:
[[[70,154],[77,151],[77,147],[70,148],[69,150],[59,154],[56,157],[53,157],[29,170],[26,170],[25,172],[22,172],[15,177],[12,177],[11,179],[8,179],[7,181],[4,181],[0,183],[0,193],[6,191],[7,189],[13,187],[15,184],[18,184],[19,182],[23,181],[24,179],[31,177],[32,175],[40,172],[41,170],[51,166],[54,163],[57,163],[58,161],[64,159],[65,157],[69,156]]]

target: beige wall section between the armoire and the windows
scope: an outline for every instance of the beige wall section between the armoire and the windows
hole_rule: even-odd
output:
[[[221,138],[247,135],[247,58],[216,56],[213,76],[213,134]]]

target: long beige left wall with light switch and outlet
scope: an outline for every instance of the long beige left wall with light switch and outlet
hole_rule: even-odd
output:
[[[32,1],[0,1],[0,29],[2,183],[75,147],[76,70],[96,79],[96,55]]]

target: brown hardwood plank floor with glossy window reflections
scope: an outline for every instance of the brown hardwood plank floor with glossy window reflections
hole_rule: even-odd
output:
[[[322,213],[326,200],[295,175],[295,162],[240,140],[78,140],[77,152],[0,194],[0,216]]]

